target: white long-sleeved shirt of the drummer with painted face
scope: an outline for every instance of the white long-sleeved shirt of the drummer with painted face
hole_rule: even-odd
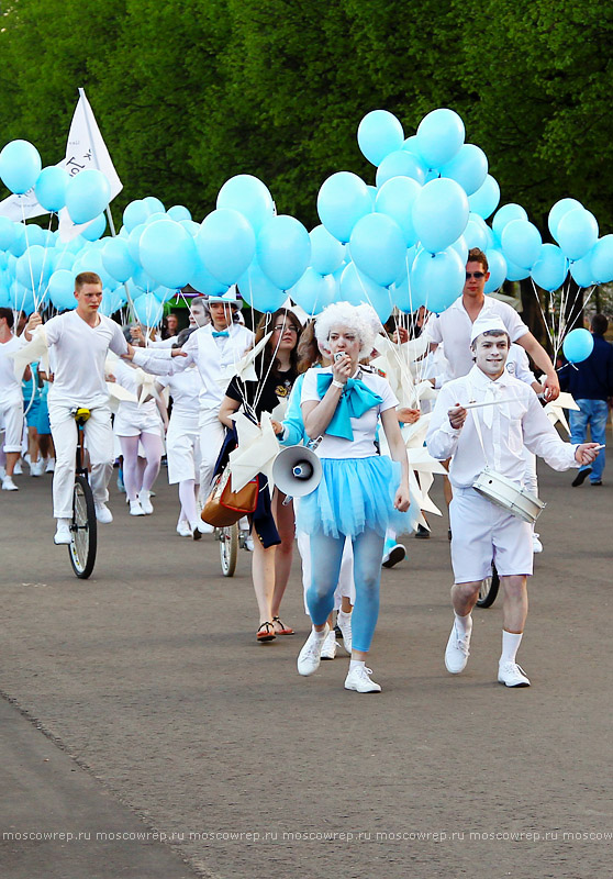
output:
[[[449,409],[472,400],[482,402],[499,397],[511,400],[498,405],[469,409],[464,427],[452,427]],[[476,426],[479,423],[481,438]],[[452,458],[449,480],[456,488],[472,486],[483,467],[522,485],[525,460],[522,447],[545,458],[555,470],[578,467],[576,446],[564,443],[532,388],[503,372],[492,381],[473,366],[462,378],[447,382],[438,394],[426,435],[430,454],[438,460]]]

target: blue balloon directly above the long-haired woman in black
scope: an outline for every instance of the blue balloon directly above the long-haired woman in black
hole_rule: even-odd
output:
[[[280,290],[289,290],[311,262],[311,238],[293,216],[274,216],[257,236],[257,262]]]

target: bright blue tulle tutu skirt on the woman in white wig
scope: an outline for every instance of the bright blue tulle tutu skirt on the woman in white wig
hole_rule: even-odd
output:
[[[401,467],[384,455],[368,458],[322,458],[322,480],[300,499],[299,531],[323,532],[331,537],[355,537],[365,528],[384,535],[413,531],[409,513],[393,501],[400,486]]]

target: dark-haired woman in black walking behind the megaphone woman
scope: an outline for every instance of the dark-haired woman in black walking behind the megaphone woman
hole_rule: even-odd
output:
[[[234,431],[232,414],[242,407],[248,418],[259,422],[263,412],[274,413],[287,400],[298,375],[298,342],[302,324],[288,309],[279,309],[260,320],[255,337],[257,345],[268,333],[261,355],[256,361],[257,381],[235,377],[230,382],[220,408],[219,419]],[[272,421],[275,433],[282,433],[280,421]],[[277,635],[293,635],[279,615],[281,599],[288,585],[293,553],[294,519],[291,501],[275,489],[270,497],[266,477],[260,475],[258,507],[252,518],[254,554],[252,576],[259,611],[258,642],[274,641]],[[261,485],[265,485],[261,490]]]

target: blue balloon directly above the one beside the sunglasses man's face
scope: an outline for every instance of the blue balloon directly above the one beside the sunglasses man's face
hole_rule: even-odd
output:
[[[468,213],[468,198],[461,186],[455,180],[439,178],[417,192],[413,202],[413,225],[425,249],[438,253],[464,233]]]

